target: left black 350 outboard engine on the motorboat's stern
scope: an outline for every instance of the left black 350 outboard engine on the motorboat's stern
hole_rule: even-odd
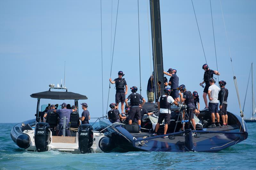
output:
[[[48,123],[37,123],[35,129],[35,144],[37,152],[45,152],[50,144],[51,129]]]

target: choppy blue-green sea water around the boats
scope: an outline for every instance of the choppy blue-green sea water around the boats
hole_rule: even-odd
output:
[[[24,152],[10,137],[14,125],[0,124],[0,169],[256,169],[256,123],[247,123],[245,141],[217,153]]]

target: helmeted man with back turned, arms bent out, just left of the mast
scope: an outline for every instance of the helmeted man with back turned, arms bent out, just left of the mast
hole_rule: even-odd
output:
[[[134,120],[134,117],[138,120],[138,125],[140,127],[141,124],[141,117],[140,117],[140,99],[143,101],[141,103],[141,107],[145,104],[146,100],[136,91],[138,88],[136,86],[132,86],[131,88],[132,94],[130,94],[126,99],[125,99],[125,104],[126,106],[129,106],[127,101],[130,100],[130,113],[129,113],[129,124],[132,124],[132,121]]]

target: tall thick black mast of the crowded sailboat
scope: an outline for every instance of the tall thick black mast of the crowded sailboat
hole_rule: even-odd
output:
[[[164,94],[164,67],[161,35],[161,19],[159,0],[150,0],[150,19],[152,34],[152,52],[154,65],[154,83],[156,87],[155,101]]]

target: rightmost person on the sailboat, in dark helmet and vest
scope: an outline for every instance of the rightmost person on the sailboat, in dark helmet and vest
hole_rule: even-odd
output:
[[[228,89],[225,88],[226,81],[219,81],[220,85],[220,92],[218,95],[218,100],[220,101],[220,114],[222,118],[223,125],[222,127],[228,126],[228,114],[227,114],[227,107],[228,107]]]

